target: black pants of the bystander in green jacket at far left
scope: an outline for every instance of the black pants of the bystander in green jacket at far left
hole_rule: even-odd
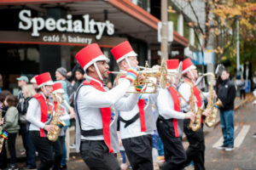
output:
[[[11,164],[16,164],[16,148],[15,148],[16,137],[17,137],[17,133],[9,133],[8,140],[7,140]]]

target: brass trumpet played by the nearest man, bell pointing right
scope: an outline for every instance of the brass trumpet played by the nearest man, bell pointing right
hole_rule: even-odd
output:
[[[159,69],[152,69],[147,67],[138,66],[138,68],[143,68],[143,71],[139,71],[139,75],[137,76],[137,80],[132,82],[131,86],[133,87],[144,87],[147,88],[153,88],[154,90],[152,92],[147,91],[128,91],[127,93],[135,93],[135,94],[154,94],[157,90],[157,84],[151,80],[150,78],[157,78],[160,79],[161,88],[166,88],[166,82],[167,82],[167,65],[166,65],[166,59],[162,60],[162,63],[160,65]],[[125,75],[125,72],[119,72],[119,71],[108,71],[108,73],[118,74],[116,77],[116,80],[119,80],[119,77],[122,77]],[[138,77],[143,76],[143,80],[139,80]],[[118,85],[118,81],[116,81],[116,84]]]

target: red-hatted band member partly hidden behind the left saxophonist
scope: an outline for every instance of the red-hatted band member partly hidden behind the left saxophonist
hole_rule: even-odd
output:
[[[53,104],[54,104],[54,115],[59,114],[59,120],[60,121],[67,121],[75,117],[75,112],[71,110],[71,114],[68,115],[67,111],[65,110],[64,105],[61,105],[60,107],[60,112],[57,111],[58,107],[58,102],[61,102],[60,100],[62,99],[63,101],[63,94],[65,93],[64,89],[62,88],[61,82],[55,82],[54,85],[52,86],[52,94],[53,94]],[[63,148],[65,144],[65,133],[63,127],[61,128],[61,133],[59,133],[59,138],[53,142],[53,148],[55,151],[55,163],[54,163],[54,168],[53,169],[60,169],[61,167],[61,159],[63,156]]]

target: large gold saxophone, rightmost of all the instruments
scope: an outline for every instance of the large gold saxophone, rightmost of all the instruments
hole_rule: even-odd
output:
[[[208,100],[207,110],[209,110],[211,112],[211,114],[209,116],[207,116],[207,118],[205,120],[205,124],[207,125],[207,127],[213,127],[216,123],[219,108],[222,107],[222,102],[220,99],[218,99],[217,102],[213,103],[214,102],[213,83],[215,80],[215,76],[212,72],[203,74],[203,76],[207,76],[207,75],[212,77],[210,88],[209,88],[209,94],[208,94],[208,98],[207,98],[207,100]]]

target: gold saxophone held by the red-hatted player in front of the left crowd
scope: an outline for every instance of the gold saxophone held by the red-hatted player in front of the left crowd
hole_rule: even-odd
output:
[[[55,94],[57,96],[57,94]],[[54,96],[54,98],[56,98],[56,96]],[[60,117],[60,113],[61,113],[61,102],[62,99],[60,99],[61,101],[59,102],[58,100],[58,104],[57,104],[57,108],[55,111],[55,116],[53,116],[50,125],[54,126],[54,132],[49,132],[47,133],[47,138],[52,141],[55,142],[58,137],[59,134],[61,133],[61,128],[65,126],[65,122],[63,121],[59,121],[59,117]]]

